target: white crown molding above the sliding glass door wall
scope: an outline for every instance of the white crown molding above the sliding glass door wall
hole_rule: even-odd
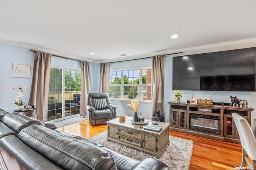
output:
[[[76,60],[88,61],[88,62],[95,63],[95,61],[92,61],[92,60],[89,60],[89,59],[85,59],[85,58],[82,58],[82,57],[77,57],[77,56],[74,56],[74,55],[60,53],[60,52],[57,52],[57,51],[51,51],[51,50],[47,50],[47,49],[33,47],[33,46],[30,46],[30,45],[24,45],[24,44],[21,44],[21,43],[16,43],[16,42],[13,42],[13,41],[8,41],[8,40],[5,40],[5,39],[0,39],[0,43],[4,43],[4,44],[8,44],[8,45],[13,45],[13,46],[17,46],[17,47],[22,47],[22,48],[27,48],[27,49],[31,49],[31,50],[34,50],[34,51],[44,51],[46,53],[51,53],[52,55],[59,55],[59,56],[62,56],[62,57],[67,57],[69,59],[76,59]]]

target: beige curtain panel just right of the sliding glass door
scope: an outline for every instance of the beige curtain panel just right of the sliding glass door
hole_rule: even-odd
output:
[[[81,61],[81,99],[80,117],[86,115],[87,94],[91,92],[90,63]]]

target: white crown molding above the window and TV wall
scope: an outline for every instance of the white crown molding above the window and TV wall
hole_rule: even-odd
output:
[[[203,45],[203,46],[198,46],[198,47],[189,47],[189,48],[184,48],[184,49],[175,49],[175,50],[168,50],[168,51],[159,51],[155,53],[145,53],[145,54],[140,54],[140,55],[131,55],[131,56],[125,56],[124,57],[119,57],[116,59],[108,59],[108,60],[101,60],[101,61],[96,61],[95,63],[114,63],[114,62],[120,62],[120,61],[128,61],[128,60],[134,60],[134,59],[144,59],[147,57],[151,57],[154,55],[167,55],[167,54],[172,54],[172,53],[179,53],[179,52],[184,52],[181,54],[175,54],[172,55],[172,57],[177,57],[177,56],[182,56],[185,55],[186,53],[191,53],[192,51],[203,51],[207,49],[217,49],[217,48],[223,48],[223,47],[232,47],[236,45],[242,45],[246,44],[249,47],[256,47],[256,38],[252,39],[244,39],[244,40],[238,40],[238,41],[230,41],[230,42],[225,42],[225,43],[217,43],[217,44],[210,44],[210,45]],[[245,47],[246,48],[246,47]],[[213,52],[213,51],[209,51]]]

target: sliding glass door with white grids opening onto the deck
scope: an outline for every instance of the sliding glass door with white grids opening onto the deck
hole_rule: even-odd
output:
[[[51,68],[48,98],[48,120],[79,114],[81,94],[80,70]]]

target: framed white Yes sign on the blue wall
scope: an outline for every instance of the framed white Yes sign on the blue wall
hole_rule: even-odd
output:
[[[30,65],[12,63],[12,77],[30,78]]]

